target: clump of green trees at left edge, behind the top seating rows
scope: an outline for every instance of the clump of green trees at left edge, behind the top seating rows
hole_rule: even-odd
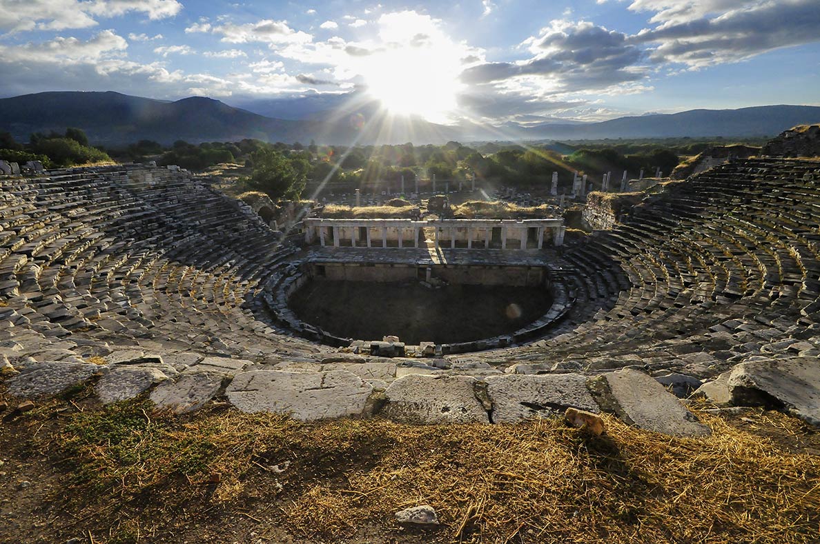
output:
[[[18,143],[7,132],[0,133],[0,160],[25,163],[40,161],[46,168],[111,161],[111,157],[98,147],[89,145],[89,138],[80,129],[66,129],[60,134],[34,133],[29,143]]]

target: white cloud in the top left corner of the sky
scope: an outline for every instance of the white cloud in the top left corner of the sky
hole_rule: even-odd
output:
[[[84,29],[98,25],[98,17],[133,11],[158,20],[181,9],[176,0],[0,0],[0,31]]]

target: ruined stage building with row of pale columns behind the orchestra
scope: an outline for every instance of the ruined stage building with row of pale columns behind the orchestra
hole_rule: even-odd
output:
[[[426,247],[435,249],[541,249],[563,243],[563,218],[532,220],[409,219],[303,220],[306,243],[333,247]]]

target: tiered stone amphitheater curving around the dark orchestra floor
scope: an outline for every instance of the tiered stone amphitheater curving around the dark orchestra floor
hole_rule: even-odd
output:
[[[575,407],[708,433],[666,386],[820,422],[816,161],[731,161],[563,245],[559,221],[498,222],[503,249],[491,248],[486,221],[433,225],[443,238],[432,249],[419,243],[429,225],[411,221],[306,220],[280,239],[249,206],[180,170],[120,165],[0,183],[2,361],[14,397],[93,381],[103,402],[148,394],[178,413],[224,398],[306,420],[498,424]],[[334,247],[347,227],[352,247]],[[468,247],[447,238],[462,231]],[[462,265],[479,283],[546,285],[551,306],[494,338],[413,346],[338,338],[288,308],[316,274],[453,280]],[[499,269],[509,272],[490,274]]]

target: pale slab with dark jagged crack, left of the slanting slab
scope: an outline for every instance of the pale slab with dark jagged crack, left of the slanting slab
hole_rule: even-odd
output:
[[[581,374],[506,374],[485,379],[493,423],[563,414],[567,408],[599,412]]]

